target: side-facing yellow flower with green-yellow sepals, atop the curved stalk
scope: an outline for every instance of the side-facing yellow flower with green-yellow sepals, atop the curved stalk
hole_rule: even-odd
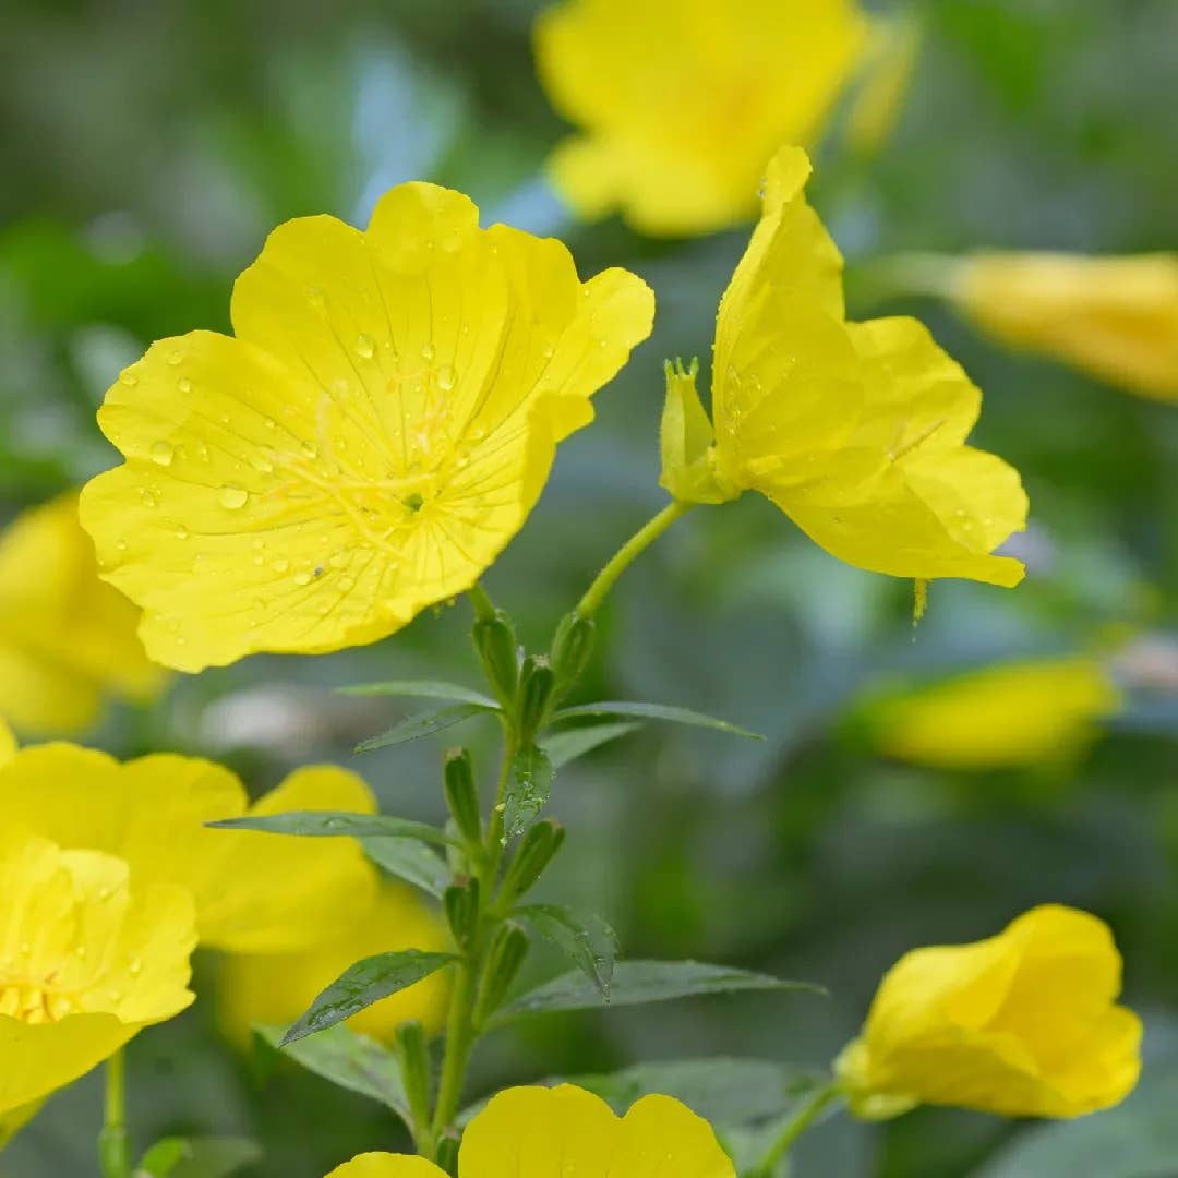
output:
[[[765,213],[720,303],[713,424],[669,372],[663,485],[715,503],[757,490],[815,543],[874,573],[1014,585],[993,550],[1026,522],[1018,472],[965,444],[981,393],[915,319],[847,323],[809,160],[770,161]]]

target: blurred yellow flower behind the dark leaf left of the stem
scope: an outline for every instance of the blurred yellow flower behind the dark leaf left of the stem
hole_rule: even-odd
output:
[[[322,929],[322,940],[303,953],[234,954],[223,962],[219,1001],[225,1033],[246,1046],[256,1024],[293,1023],[349,966],[395,949],[445,951],[445,926],[403,885],[386,885],[357,920]],[[446,1011],[446,974],[431,974],[349,1020],[362,1034],[391,1043],[406,1019],[418,1019],[430,1031],[441,1027]]]

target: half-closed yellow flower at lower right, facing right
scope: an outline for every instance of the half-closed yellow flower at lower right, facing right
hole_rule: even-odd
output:
[[[1140,1072],[1108,927],[1044,905],[997,937],[907,953],[884,978],[838,1070],[860,1116],[916,1104],[1079,1117],[1118,1104]]]

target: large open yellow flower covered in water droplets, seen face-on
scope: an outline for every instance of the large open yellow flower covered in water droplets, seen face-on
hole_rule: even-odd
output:
[[[582,285],[558,241],[429,184],[366,232],[287,221],[236,338],[160,340],[107,392],[126,463],[81,505],[102,575],[181,670],[384,637],[495,560],[653,315],[634,274]]]

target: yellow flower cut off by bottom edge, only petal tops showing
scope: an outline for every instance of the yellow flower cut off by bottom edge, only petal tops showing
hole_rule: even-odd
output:
[[[365,1153],[329,1178],[437,1178],[421,1158]],[[598,1097],[562,1084],[508,1088],[470,1123],[459,1178],[735,1178],[712,1127],[670,1097],[643,1097],[616,1117]]]

